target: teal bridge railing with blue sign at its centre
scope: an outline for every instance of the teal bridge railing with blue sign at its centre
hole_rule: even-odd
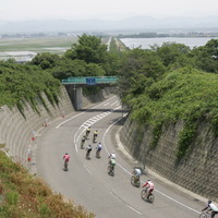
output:
[[[81,76],[81,77],[69,77],[62,80],[62,84],[86,84],[86,85],[97,85],[97,84],[111,84],[118,83],[118,76]]]

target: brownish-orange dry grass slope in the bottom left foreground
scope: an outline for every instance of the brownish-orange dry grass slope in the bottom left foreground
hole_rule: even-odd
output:
[[[0,150],[1,218],[93,218],[73,202],[65,202],[39,179]]]

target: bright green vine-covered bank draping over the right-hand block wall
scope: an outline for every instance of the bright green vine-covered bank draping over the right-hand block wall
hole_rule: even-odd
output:
[[[201,122],[210,123],[218,133],[218,75],[195,69],[181,69],[166,74],[147,87],[138,97],[128,96],[133,108],[132,118],[154,126],[150,148],[157,146],[162,126],[184,121],[180,132],[177,157],[183,158],[192,149]]]

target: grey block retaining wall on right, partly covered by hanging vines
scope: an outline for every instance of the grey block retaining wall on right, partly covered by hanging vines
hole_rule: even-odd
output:
[[[207,123],[202,123],[192,145],[192,153],[177,162],[175,153],[182,128],[182,122],[165,126],[156,148],[150,149],[150,126],[143,126],[142,141],[136,143],[142,128],[128,119],[120,138],[129,153],[148,169],[198,195],[218,202],[218,137],[215,137]]]

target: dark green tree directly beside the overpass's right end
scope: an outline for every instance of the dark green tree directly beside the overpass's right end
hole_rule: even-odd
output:
[[[122,100],[144,93],[165,71],[166,68],[155,51],[140,48],[126,51],[122,58],[119,83]]]

